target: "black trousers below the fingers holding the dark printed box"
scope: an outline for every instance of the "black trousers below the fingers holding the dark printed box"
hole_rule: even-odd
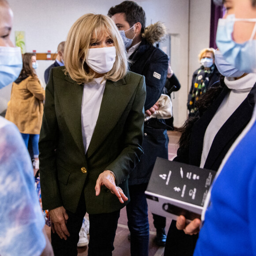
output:
[[[177,230],[176,221],[169,228],[164,256],[193,256],[198,234],[186,235],[183,230]]]

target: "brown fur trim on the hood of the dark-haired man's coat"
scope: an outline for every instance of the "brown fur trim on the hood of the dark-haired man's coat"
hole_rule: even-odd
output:
[[[142,34],[142,37],[147,40],[147,42],[154,45],[157,42],[161,42],[166,35],[166,26],[164,23],[158,21],[154,24],[147,26]]]

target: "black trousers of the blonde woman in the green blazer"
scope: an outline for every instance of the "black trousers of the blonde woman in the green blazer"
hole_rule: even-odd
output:
[[[51,232],[52,246],[55,256],[77,256],[77,243],[79,231],[86,214],[84,196],[81,196],[77,211],[67,211],[67,228],[70,237],[67,240],[60,239],[57,233]],[[88,245],[88,256],[112,256],[114,250],[114,239],[117,230],[117,222],[120,211],[102,214],[89,214],[90,219],[90,241]]]

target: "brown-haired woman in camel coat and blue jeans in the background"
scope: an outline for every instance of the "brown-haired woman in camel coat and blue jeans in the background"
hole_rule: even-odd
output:
[[[35,69],[38,67],[36,54],[23,55],[23,68],[12,83],[11,100],[5,118],[14,123],[21,133],[26,147],[31,139],[33,166],[39,169],[38,140],[44,111],[45,90],[39,82]]]

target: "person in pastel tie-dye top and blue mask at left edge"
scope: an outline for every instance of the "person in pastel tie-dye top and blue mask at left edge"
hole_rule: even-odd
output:
[[[12,11],[0,0],[0,89],[22,69],[20,48],[10,40]],[[30,156],[16,126],[0,117],[0,255],[53,256]]]

